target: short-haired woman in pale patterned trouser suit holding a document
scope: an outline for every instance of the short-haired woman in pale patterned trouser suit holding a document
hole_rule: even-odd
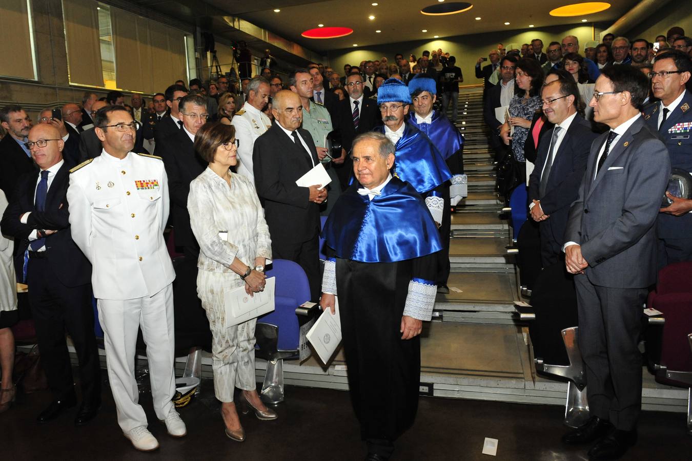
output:
[[[264,290],[264,266],[271,262],[271,239],[255,185],[233,173],[238,142],[232,125],[209,123],[194,137],[194,149],[209,166],[190,183],[188,211],[200,252],[197,294],[212,330],[214,388],[221,404],[226,435],[242,442],[245,432],[233,402],[242,389],[244,413],[260,420],[277,415],[257,395],[255,382],[256,319],[224,328],[224,292],[245,287],[248,294]],[[222,238],[219,232],[227,232]]]

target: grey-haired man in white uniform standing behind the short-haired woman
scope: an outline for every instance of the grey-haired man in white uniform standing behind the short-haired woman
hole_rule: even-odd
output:
[[[248,100],[242,109],[233,115],[230,124],[235,126],[235,139],[238,141],[238,166],[236,171],[251,180],[253,172],[253,148],[255,140],[271,126],[271,120],[262,109],[269,101],[269,82],[264,77],[257,77],[248,84]]]

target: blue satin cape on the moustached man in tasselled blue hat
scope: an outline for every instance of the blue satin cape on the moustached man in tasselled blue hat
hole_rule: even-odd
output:
[[[373,131],[385,132],[384,126]],[[444,157],[424,133],[405,122],[403,136],[395,146],[394,167],[397,176],[424,195],[452,177]]]

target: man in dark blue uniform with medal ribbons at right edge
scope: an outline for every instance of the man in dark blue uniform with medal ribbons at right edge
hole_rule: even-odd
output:
[[[656,57],[649,73],[657,102],[644,109],[644,120],[666,144],[671,167],[692,173],[692,93],[685,89],[692,72],[690,57],[669,50]],[[656,227],[659,267],[692,261],[692,200],[677,198],[661,209]]]

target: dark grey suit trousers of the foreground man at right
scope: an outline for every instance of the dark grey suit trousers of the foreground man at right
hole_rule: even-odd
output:
[[[583,274],[574,283],[590,413],[631,431],[641,412],[637,343],[647,290],[599,287]]]

